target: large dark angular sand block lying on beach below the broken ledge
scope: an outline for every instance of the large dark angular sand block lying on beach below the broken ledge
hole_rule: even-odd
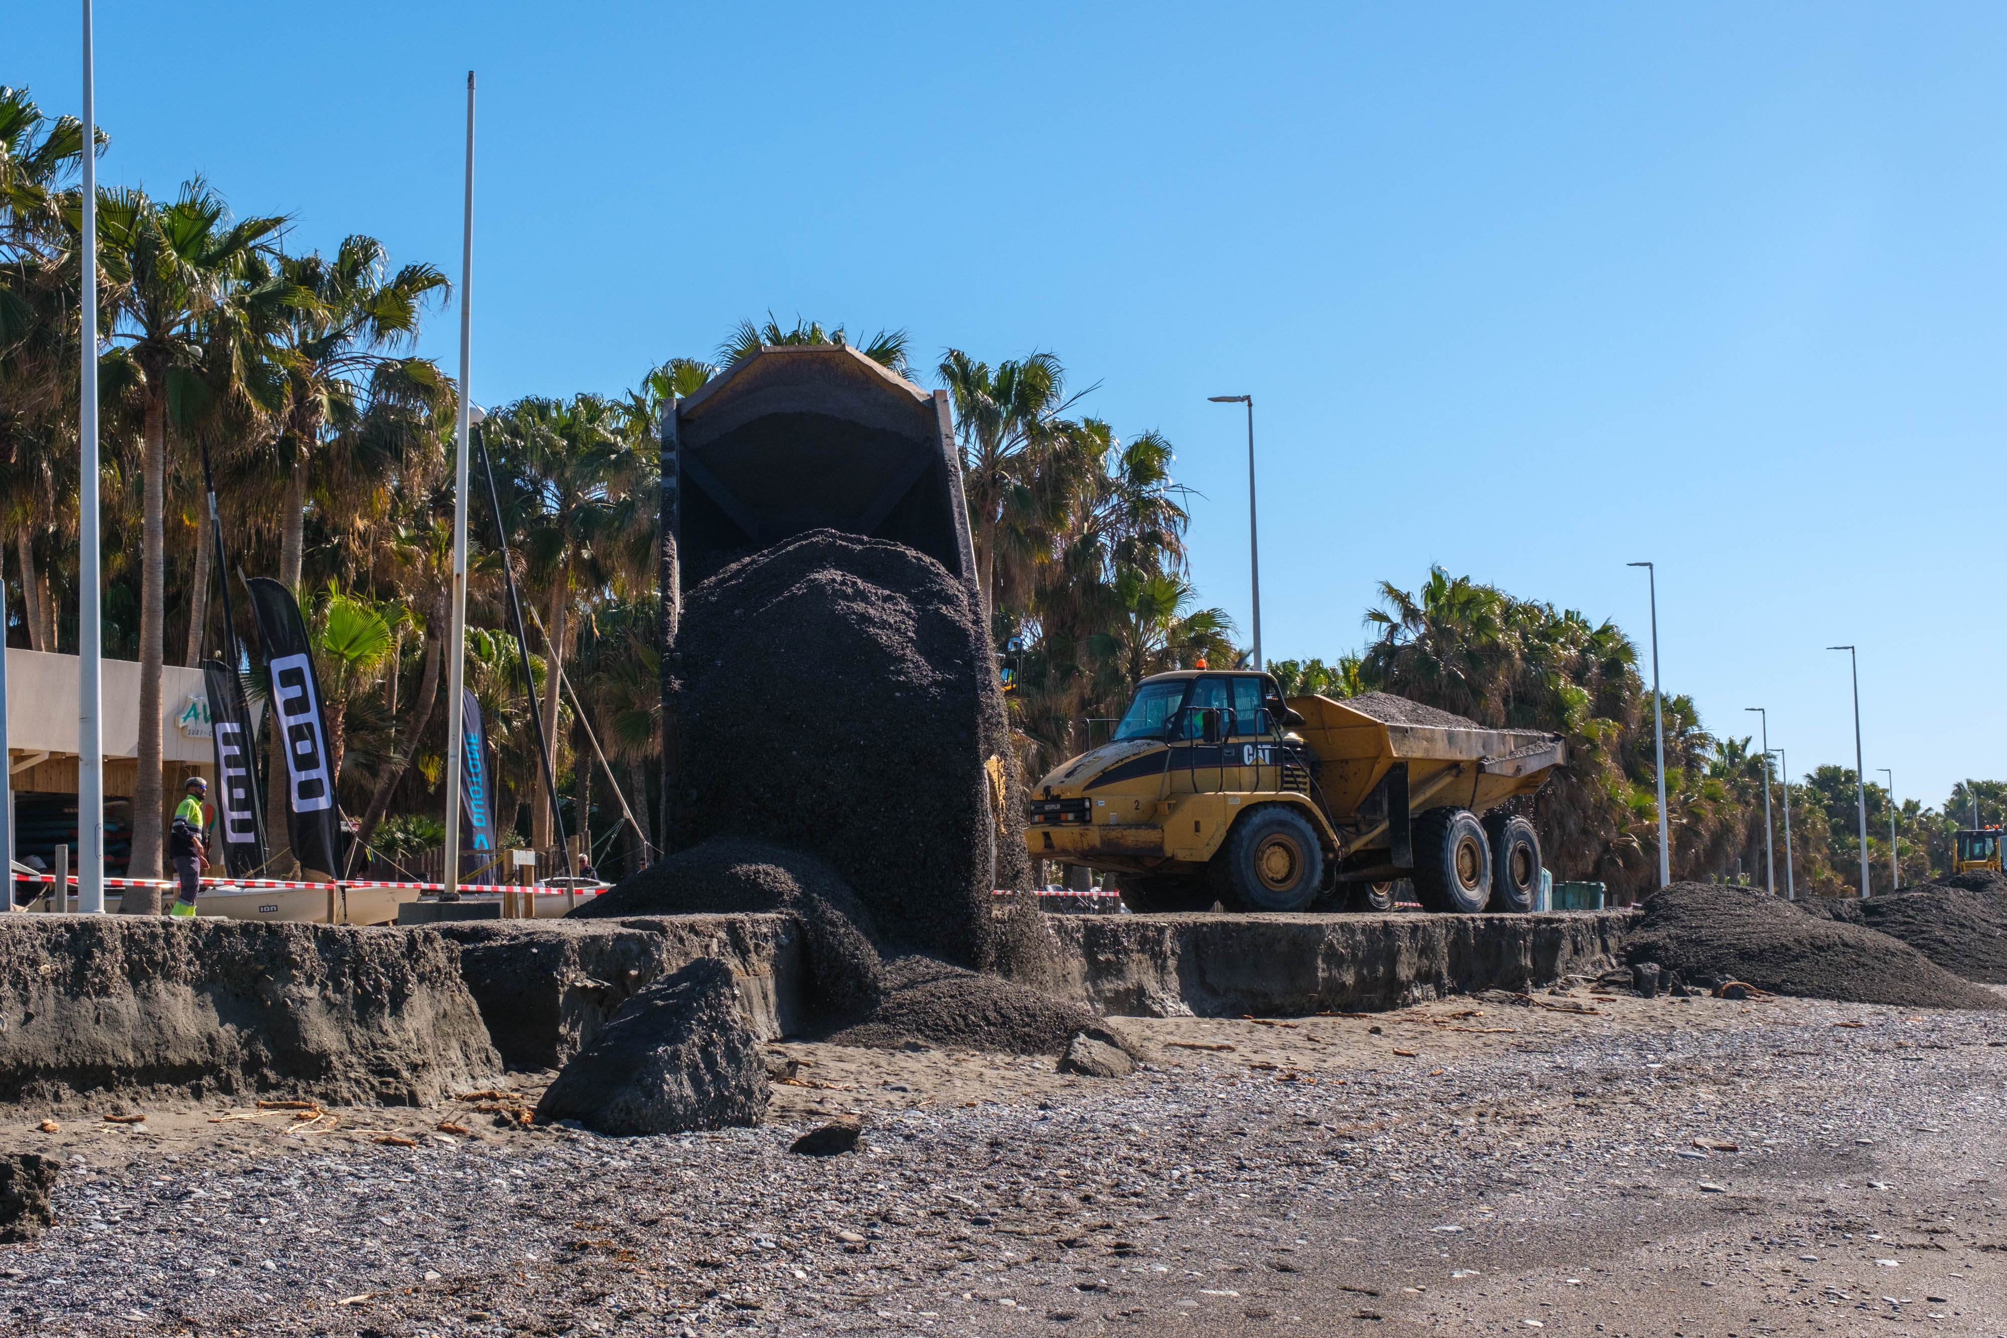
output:
[[[558,1071],[536,1117],[620,1137],[723,1129],[761,1123],[769,1091],[733,971],[702,957],[620,1005]]]

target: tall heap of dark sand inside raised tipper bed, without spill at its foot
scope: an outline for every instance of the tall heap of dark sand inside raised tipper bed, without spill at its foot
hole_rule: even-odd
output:
[[[989,961],[989,893],[1024,887],[987,758],[1014,768],[989,636],[931,558],[817,530],[688,594],[678,847],[747,837],[825,859],[877,929]],[[1006,816],[1020,804],[1004,802]]]

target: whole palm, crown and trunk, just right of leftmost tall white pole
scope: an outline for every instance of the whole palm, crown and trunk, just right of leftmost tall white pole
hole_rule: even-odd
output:
[[[104,191],[98,203],[100,263],[116,293],[112,339],[122,341],[140,379],[145,411],[142,538],[138,600],[138,780],[132,786],[136,879],[161,875],[161,664],[167,632],[167,405],[171,383],[191,379],[201,361],[205,319],[251,295],[239,283],[283,219],[229,221],[223,197],[201,179],[159,205],[138,191]],[[159,891],[136,889],[130,913],[159,913]],[[149,895],[151,893],[151,895]]]

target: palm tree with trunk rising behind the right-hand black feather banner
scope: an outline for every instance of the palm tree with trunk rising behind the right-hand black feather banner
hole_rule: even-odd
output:
[[[359,235],[345,237],[333,259],[319,253],[285,257],[279,269],[297,295],[287,311],[281,355],[289,387],[279,435],[279,463],[287,471],[279,582],[297,588],[309,471],[327,429],[357,423],[371,387],[395,385],[399,377],[419,385],[436,381],[432,363],[395,353],[417,339],[425,299],[444,299],[450,285],[436,265],[405,265],[385,277],[383,245]]]

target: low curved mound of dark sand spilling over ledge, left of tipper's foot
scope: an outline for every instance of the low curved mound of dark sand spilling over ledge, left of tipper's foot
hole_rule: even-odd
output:
[[[785,911],[809,947],[807,1003],[831,1023],[863,1017],[879,997],[877,925],[837,873],[763,841],[706,841],[628,875],[566,919],[745,915]]]

